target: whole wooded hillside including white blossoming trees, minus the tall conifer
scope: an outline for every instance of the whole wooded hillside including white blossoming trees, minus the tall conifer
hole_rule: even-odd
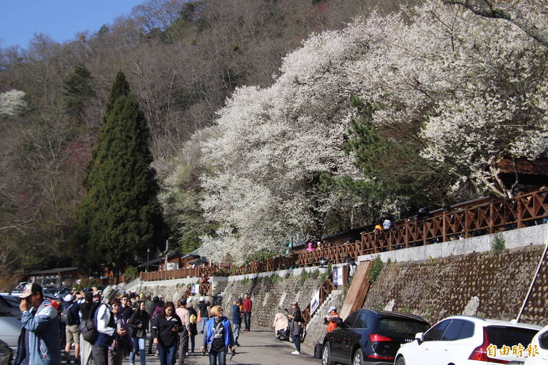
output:
[[[184,251],[243,262],[508,194],[497,161],[547,149],[547,5],[520,3],[512,24],[459,2],[149,0],[71,42],[2,49],[0,268],[71,263],[119,71]]]

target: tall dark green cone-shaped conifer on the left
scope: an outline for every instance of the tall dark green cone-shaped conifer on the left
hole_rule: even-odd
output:
[[[99,264],[120,269],[161,247],[164,235],[147,121],[122,72],[103,121],[77,212],[75,248],[88,271]]]

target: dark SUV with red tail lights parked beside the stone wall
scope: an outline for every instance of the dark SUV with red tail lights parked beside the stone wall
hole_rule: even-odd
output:
[[[414,314],[360,309],[325,335],[322,364],[391,365],[401,344],[429,328]]]

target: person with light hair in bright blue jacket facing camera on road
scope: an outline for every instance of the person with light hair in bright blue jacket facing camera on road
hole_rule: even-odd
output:
[[[203,334],[202,352],[209,347],[210,365],[226,365],[227,348],[236,351],[230,321],[223,316],[223,308],[215,305],[211,308],[212,319],[208,320],[206,332]]]

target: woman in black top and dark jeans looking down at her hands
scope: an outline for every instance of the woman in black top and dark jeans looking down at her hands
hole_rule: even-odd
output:
[[[160,365],[175,364],[175,353],[177,342],[179,342],[177,333],[183,329],[181,318],[175,314],[175,305],[171,301],[166,302],[152,324],[152,337],[158,348]]]

